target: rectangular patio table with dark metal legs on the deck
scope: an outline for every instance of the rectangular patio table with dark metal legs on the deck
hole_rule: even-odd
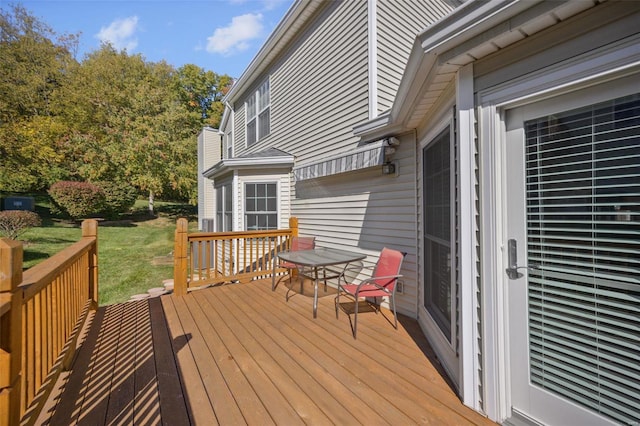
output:
[[[285,251],[278,253],[277,257],[286,262],[302,266],[301,275],[313,280],[313,317],[316,318],[318,311],[318,271],[323,272],[323,280],[338,278],[344,275],[349,263],[363,260],[367,256],[346,250],[317,247],[311,250]],[[272,284],[275,283],[276,264],[277,262],[273,262]],[[329,266],[336,265],[344,265],[344,267],[337,271],[327,269]],[[333,275],[326,275],[327,271]]]

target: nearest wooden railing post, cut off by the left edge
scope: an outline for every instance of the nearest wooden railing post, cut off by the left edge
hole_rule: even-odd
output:
[[[22,244],[0,239],[0,426],[20,423]]]

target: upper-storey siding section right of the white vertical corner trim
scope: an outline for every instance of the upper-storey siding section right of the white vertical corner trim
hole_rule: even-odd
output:
[[[377,0],[378,112],[393,105],[416,35],[452,9],[437,0]]]

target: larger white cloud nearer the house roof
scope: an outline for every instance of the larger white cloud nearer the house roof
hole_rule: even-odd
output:
[[[250,41],[262,37],[262,14],[235,16],[231,23],[217,28],[207,39],[207,52],[231,55],[249,48]]]

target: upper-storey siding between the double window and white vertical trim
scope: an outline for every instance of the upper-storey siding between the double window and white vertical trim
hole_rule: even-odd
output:
[[[366,2],[328,3],[271,74],[272,132],[266,141],[278,141],[297,164],[357,142],[353,125],[368,116],[366,14]]]

